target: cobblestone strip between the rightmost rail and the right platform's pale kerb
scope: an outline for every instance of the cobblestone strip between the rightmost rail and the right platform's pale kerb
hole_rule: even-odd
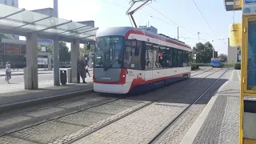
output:
[[[222,76],[222,79],[227,79],[230,76],[230,73],[231,70],[227,71],[226,74]],[[223,82],[225,81],[216,82],[215,85],[211,87],[211,89],[203,96],[203,98],[191,106],[190,109],[187,110],[186,113],[183,114],[177,122],[170,126],[170,129],[166,131],[166,134],[163,134],[162,138],[159,138],[158,142],[156,143],[180,143],[182,138],[186,135],[187,131],[190,130],[190,126],[193,125],[195,120],[198,118],[198,115],[201,114],[202,110],[206,106],[207,102],[209,102],[215,91],[218,90],[220,86],[222,86]]]

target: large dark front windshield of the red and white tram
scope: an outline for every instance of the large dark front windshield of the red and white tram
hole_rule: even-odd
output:
[[[122,36],[104,36],[96,38],[94,53],[95,68],[121,68],[122,66]]]

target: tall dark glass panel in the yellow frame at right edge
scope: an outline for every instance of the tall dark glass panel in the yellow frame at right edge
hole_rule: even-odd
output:
[[[256,19],[248,22],[247,89],[256,90]]]

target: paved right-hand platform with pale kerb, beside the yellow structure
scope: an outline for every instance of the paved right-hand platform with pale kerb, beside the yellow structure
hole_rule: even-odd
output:
[[[210,99],[180,144],[238,144],[240,70]]]

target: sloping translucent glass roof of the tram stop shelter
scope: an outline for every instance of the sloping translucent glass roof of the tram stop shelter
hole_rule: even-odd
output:
[[[55,39],[80,43],[94,41],[97,27],[38,14],[30,10],[0,4],[0,33],[26,36],[37,33],[38,38]]]

